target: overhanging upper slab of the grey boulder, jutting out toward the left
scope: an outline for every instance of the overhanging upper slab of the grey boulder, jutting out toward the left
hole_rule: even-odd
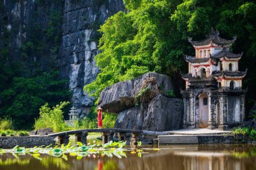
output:
[[[166,75],[159,75],[158,73],[147,73],[141,77],[130,81],[122,81],[106,87],[100,93],[100,100],[98,105],[104,112],[119,113],[135,105],[135,95],[139,92],[140,87],[146,79],[155,77],[158,88],[167,95],[168,91],[172,89],[173,85]],[[135,109],[136,110],[136,109]],[[129,111],[127,111],[129,112]]]

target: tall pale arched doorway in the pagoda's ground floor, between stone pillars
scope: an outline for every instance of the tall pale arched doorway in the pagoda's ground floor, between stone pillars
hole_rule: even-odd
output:
[[[208,107],[208,95],[201,93],[199,96],[199,128],[207,128],[209,107]]]

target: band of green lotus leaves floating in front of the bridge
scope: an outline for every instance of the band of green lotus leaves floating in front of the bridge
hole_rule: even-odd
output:
[[[142,149],[129,149],[124,148],[126,142],[107,142],[97,146],[96,144],[82,144],[82,142],[77,142],[75,145],[71,145],[69,142],[67,145],[62,144],[61,146],[35,146],[34,148],[24,148],[20,146],[15,146],[12,149],[0,149],[0,155],[11,153],[14,157],[18,158],[19,155],[31,155],[32,157],[42,161],[41,155],[51,155],[53,157],[61,157],[67,161],[67,154],[71,157],[76,157],[78,160],[83,159],[83,157],[117,157],[119,159],[126,156],[126,152],[130,151],[131,154],[137,154],[141,157],[143,153]]]

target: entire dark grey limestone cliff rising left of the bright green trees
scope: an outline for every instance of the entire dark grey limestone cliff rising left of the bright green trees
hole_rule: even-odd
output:
[[[123,10],[122,0],[0,0],[0,48],[8,46],[7,60],[28,65],[31,75],[57,66],[68,81],[72,105],[83,116],[94,102],[83,87],[99,72],[97,30]],[[54,30],[49,23],[56,25]],[[24,54],[26,43],[34,49]]]

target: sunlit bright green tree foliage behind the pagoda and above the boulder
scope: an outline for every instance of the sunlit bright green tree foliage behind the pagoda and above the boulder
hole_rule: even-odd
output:
[[[187,72],[183,54],[193,54],[193,40],[205,38],[210,28],[220,36],[237,40],[234,53],[244,52],[240,70],[249,69],[244,87],[255,99],[256,4],[242,0],[124,0],[126,11],[108,18],[100,28],[102,53],[96,56],[101,73],[84,89],[98,97],[105,87],[133,79],[148,71],[166,74],[184,84],[180,71]],[[250,107],[247,107],[250,108]]]

